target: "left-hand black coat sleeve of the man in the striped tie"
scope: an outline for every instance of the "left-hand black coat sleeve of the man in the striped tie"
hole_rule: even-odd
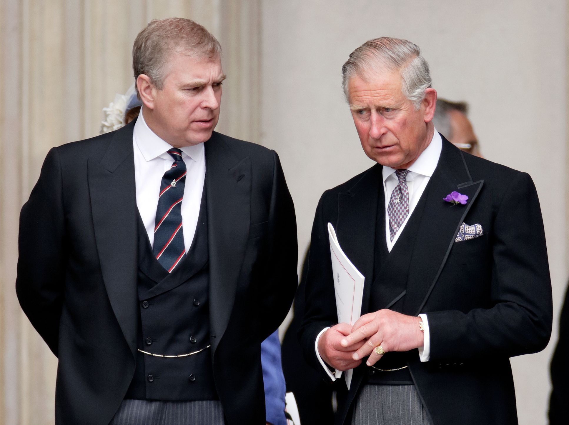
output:
[[[64,291],[64,212],[57,148],[20,212],[16,292],[31,324],[57,356]]]

